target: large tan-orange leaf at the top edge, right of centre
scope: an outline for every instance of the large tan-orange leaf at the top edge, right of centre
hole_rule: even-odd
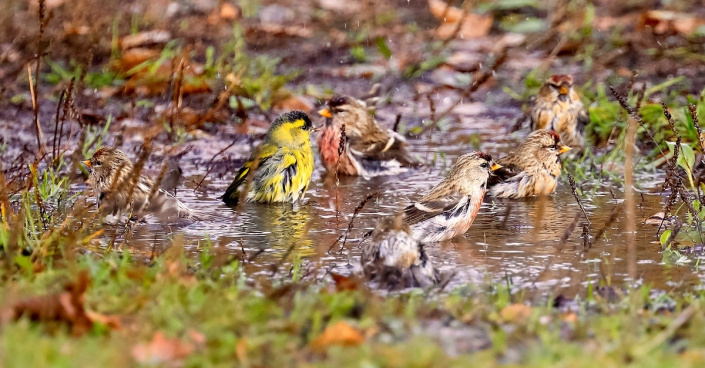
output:
[[[490,14],[465,12],[443,0],[428,0],[428,7],[431,14],[441,21],[441,25],[436,30],[436,36],[440,39],[445,40],[453,36],[456,38],[482,37],[486,36],[492,28],[493,19]]]

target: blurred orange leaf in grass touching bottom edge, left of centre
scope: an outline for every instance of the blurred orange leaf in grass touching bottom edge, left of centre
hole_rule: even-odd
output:
[[[193,345],[176,338],[166,338],[157,331],[149,343],[132,347],[132,357],[140,364],[157,365],[183,360],[193,351]]]

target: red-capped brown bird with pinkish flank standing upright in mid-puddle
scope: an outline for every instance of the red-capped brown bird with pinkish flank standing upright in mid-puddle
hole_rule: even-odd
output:
[[[468,231],[480,210],[490,173],[500,167],[483,152],[460,156],[443,181],[404,209],[414,238],[422,243],[439,242]]]

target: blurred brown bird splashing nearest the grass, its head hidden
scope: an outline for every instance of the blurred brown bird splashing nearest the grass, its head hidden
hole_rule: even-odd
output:
[[[361,263],[365,277],[386,289],[429,287],[440,279],[401,214],[377,221],[362,248]]]

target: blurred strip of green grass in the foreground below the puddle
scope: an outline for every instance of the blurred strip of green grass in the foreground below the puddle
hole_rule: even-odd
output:
[[[144,359],[133,349],[149,345],[155,332],[188,346],[192,352],[174,360],[193,367],[705,363],[702,292],[652,296],[641,287],[617,300],[578,301],[573,313],[526,305],[497,285],[381,296],[287,277],[252,284],[238,261],[204,267],[180,246],[148,265],[127,252],[60,263],[29,275],[4,269],[3,306],[58,292],[86,270],[85,307],[119,318],[121,328],[95,323],[74,336],[62,321],[8,321],[0,331],[3,366],[133,365]],[[359,344],[314,343],[340,321],[359,332]],[[458,350],[463,345],[475,348]]]

